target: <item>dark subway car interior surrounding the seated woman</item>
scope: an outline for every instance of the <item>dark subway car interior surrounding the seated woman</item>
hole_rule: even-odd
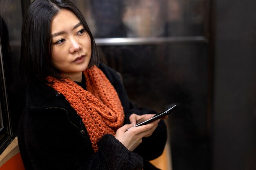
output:
[[[179,105],[165,120],[157,168],[256,170],[255,0],[71,1],[132,102],[155,111]],[[22,18],[32,2],[0,0],[0,170],[24,169],[19,61]]]

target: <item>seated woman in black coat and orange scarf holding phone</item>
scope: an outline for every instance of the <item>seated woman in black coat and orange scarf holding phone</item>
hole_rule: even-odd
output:
[[[27,105],[18,141],[27,170],[147,170],[166,126],[132,128],[155,111],[132,105],[100,57],[81,12],[68,0],[35,0],[22,24]],[[143,138],[143,141],[142,141]]]

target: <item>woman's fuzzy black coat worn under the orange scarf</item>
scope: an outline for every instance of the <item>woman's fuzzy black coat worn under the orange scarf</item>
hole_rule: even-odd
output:
[[[125,122],[129,116],[155,114],[155,111],[135,107],[128,100],[119,75],[107,67],[99,68],[115,87],[124,107]],[[133,151],[128,150],[113,135],[106,134],[98,142],[94,153],[89,135],[76,111],[49,86],[27,87],[27,106],[20,119],[18,144],[27,170],[144,170],[155,169],[148,160],[159,157],[164,149],[167,133],[161,121],[150,137]]]

